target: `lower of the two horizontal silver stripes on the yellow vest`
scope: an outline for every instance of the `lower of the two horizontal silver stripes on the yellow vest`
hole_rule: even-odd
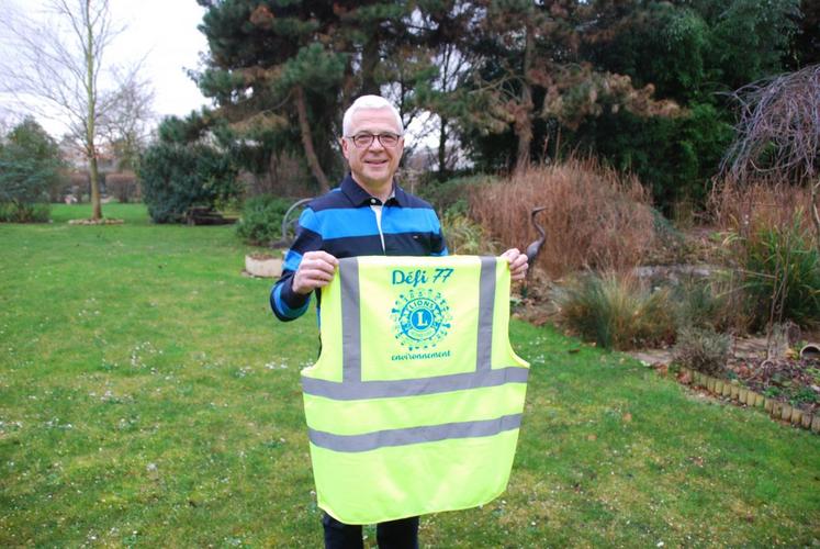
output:
[[[435,442],[450,438],[491,437],[505,430],[517,429],[521,414],[503,415],[495,419],[443,423],[424,427],[377,430],[363,435],[334,435],[323,430],[307,429],[311,442],[329,450],[357,452],[375,450],[387,446],[406,446]]]

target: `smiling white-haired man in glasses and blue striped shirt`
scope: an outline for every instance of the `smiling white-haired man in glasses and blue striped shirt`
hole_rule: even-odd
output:
[[[345,112],[342,133],[341,153],[350,173],[339,188],[306,206],[282,278],[271,290],[271,307],[282,321],[304,314],[311,292],[330,282],[339,258],[447,255],[430,204],[393,179],[404,150],[398,111],[381,97],[362,96]],[[509,262],[513,280],[524,279],[527,256],[508,249],[502,257]],[[318,291],[316,295],[318,300]],[[362,547],[361,526],[345,525],[327,514],[322,523],[325,547]],[[380,548],[418,547],[418,517],[379,524],[377,539]]]

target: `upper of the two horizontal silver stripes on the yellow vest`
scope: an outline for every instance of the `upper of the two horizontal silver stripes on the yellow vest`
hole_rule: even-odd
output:
[[[519,367],[451,373],[435,378],[345,383],[303,376],[302,391],[305,394],[325,396],[337,401],[356,401],[359,399],[385,399],[392,396],[448,393],[465,389],[503,385],[505,383],[526,383],[527,376],[529,376],[529,368]]]

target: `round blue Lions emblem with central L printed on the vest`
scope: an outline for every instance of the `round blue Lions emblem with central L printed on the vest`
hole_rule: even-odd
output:
[[[409,290],[401,294],[391,310],[394,333],[408,350],[427,349],[441,341],[450,328],[450,307],[441,292]]]

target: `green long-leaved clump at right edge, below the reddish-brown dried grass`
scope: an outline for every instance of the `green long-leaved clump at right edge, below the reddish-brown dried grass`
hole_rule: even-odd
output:
[[[761,226],[748,237],[732,234],[728,242],[755,327],[820,323],[820,249],[799,210],[790,223]]]

